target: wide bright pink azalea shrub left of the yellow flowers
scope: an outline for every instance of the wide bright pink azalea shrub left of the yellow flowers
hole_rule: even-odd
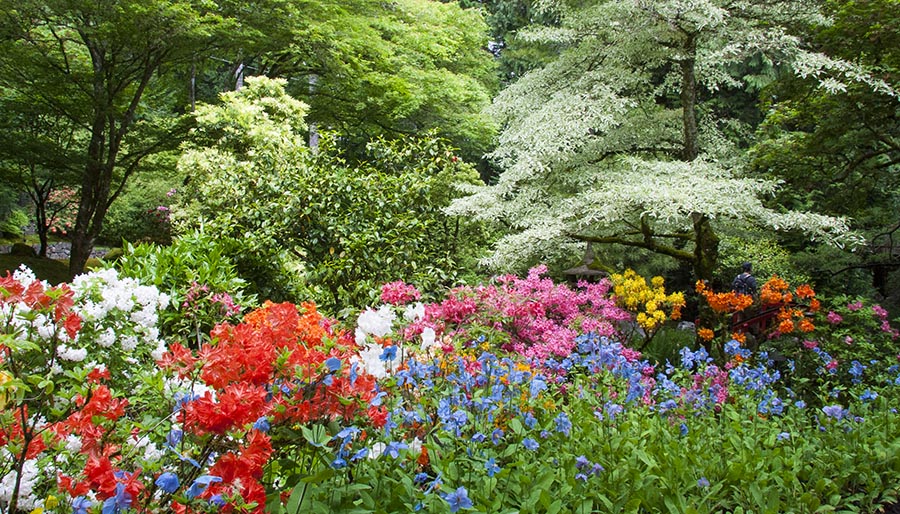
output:
[[[453,289],[425,305],[405,335],[412,339],[430,329],[438,340],[545,359],[569,355],[579,334],[616,337],[616,323],[631,319],[609,298],[609,281],[579,282],[573,289],[546,273],[541,265],[525,278],[503,275],[492,284]]]

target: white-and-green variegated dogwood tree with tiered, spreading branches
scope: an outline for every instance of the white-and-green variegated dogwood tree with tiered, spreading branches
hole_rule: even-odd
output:
[[[588,241],[670,256],[710,279],[725,226],[838,245],[858,239],[846,219],[769,208],[778,184],[748,176],[729,136],[740,122],[714,107],[744,87],[753,59],[816,77],[826,90],[856,82],[893,94],[792,35],[824,21],[815,2],[551,0],[546,8],[558,10],[560,26],[520,36],[563,50],[495,99],[503,128],[491,157],[503,172],[450,207],[510,229],[488,264],[514,268]]]

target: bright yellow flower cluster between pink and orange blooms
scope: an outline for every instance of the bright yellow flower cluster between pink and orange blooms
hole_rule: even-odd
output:
[[[648,332],[656,331],[667,319],[679,319],[684,294],[666,294],[665,279],[653,277],[648,284],[634,270],[612,277],[616,304],[635,315],[635,321]]]

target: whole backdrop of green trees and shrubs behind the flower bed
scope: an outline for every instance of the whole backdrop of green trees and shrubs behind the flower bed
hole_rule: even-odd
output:
[[[60,280],[174,243],[336,314],[587,244],[895,312],[897,7],[4,0],[2,229],[71,241]]]

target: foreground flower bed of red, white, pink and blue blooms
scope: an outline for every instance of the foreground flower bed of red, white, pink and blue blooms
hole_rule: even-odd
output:
[[[572,289],[544,271],[427,304],[389,283],[350,326],[312,303],[266,302],[223,314],[199,347],[160,339],[168,297],[155,287],[112,270],[49,287],[17,271],[0,279],[0,507],[814,512],[896,501],[900,370],[880,307],[823,306],[803,354],[731,339],[718,359],[701,347],[655,362],[617,341],[633,320],[609,283]],[[865,362],[853,359],[864,336]],[[806,364],[824,352],[838,364]]]

